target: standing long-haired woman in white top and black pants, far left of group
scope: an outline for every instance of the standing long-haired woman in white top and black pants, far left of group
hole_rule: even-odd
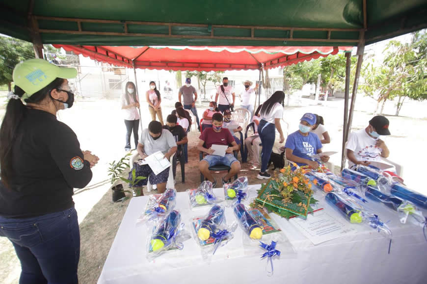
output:
[[[138,129],[139,129],[139,98],[136,94],[136,87],[133,82],[127,82],[125,93],[120,98],[122,104],[122,114],[126,125],[126,145],[125,150],[131,150],[131,135],[133,131],[133,140],[135,148],[138,146]]]

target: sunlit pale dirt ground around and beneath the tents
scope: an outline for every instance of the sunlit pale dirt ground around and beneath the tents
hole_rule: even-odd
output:
[[[0,94],[1,99],[1,94]],[[172,110],[174,102],[164,102],[163,117]],[[1,105],[1,102],[0,102]],[[198,105],[201,116],[207,104]],[[400,117],[389,115],[392,135],[386,143],[391,151],[390,159],[404,166],[403,178],[406,183],[426,194],[423,180],[419,179],[420,166],[426,160],[425,151],[421,151],[423,142],[427,140],[425,107],[427,103],[407,103],[403,106]],[[141,110],[146,110],[141,105]],[[367,126],[372,118],[375,103],[369,98],[360,97],[356,101],[356,111],[353,119],[353,130]],[[4,111],[0,107],[1,112]],[[298,127],[299,118],[305,112],[314,112],[325,119],[325,127],[332,138],[330,144],[324,146],[324,151],[337,151],[331,156],[336,167],[340,165],[341,143],[343,129],[343,101],[337,100],[325,104],[315,104],[314,101],[303,99],[291,101],[291,106],[285,108],[284,120],[289,124],[287,131],[292,133]],[[393,102],[386,105],[386,113],[394,113]],[[143,111],[143,127],[150,121],[148,111]],[[101,160],[93,168],[93,180],[90,184],[75,191],[74,201],[79,214],[80,223],[80,283],[96,283],[107,258],[109,249],[120,226],[129,200],[113,204],[111,201],[110,184],[107,181],[107,167],[112,160],[125,155],[124,134],[125,126],[121,120],[118,101],[86,100],[80,101],[70,110],[60,112],[59,120],[69,125],[77,134],[82,150],[91,150],[99,155]],[[286,128],[285,128],[286,129]],[[186,182],[181,181],[180,166],[177,167],[176,185],[178,191],[195,188],[200,183],[198,170],[199,153],[195,148],[199,132],[194,129],[189,133],[188,163],[186,164]],[[409,151],[408,151],[409,150]],[[240,155],[239,155],[240,158]],[[250,170],[250,164],[243,163],[240,176],[248,176],[249,183],[260,183],[256,179],[257,170]],[[225,173],[215,173],[217,180]],[[220,186],[221,184],[218,184]],[[156,193],[156,191],[151,192]],[[148,194],[146,191],[144,194]],[[16,258],[13,246],[6,238],[0,238],[0,283],[18,283],[20,263]]]

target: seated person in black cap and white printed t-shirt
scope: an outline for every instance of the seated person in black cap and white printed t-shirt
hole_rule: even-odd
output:
[[[367,166],[371,161],[387,158],[390,151],[380,135],[390,135],[389,121],[382,115],[374,116],[368,127],[351,132],[346,146],[348,166]],[[395,170],[392,170],[395,171]]]

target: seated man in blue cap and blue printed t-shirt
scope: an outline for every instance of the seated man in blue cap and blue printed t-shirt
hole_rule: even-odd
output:
[[[286,159],[296,163],[298,166],[308,165],[313,169],[319,167],[319,162],[313,155],[322,153],[322,143],[319,137],[311,132],[316,126],[316,115],[313,113],[304,114],[299,123],[299,130],[288,135],[286,139]],[[329,156],[321,155],[322,162],[327,162]]]

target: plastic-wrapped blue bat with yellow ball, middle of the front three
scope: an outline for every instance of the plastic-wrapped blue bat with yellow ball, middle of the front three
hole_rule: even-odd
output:
[[[233,238],[237,224],[227,226],[224,206],[214,205],[206,216],[191,219],[194,239],[202,249],[204,259],[210,259],[219,247]]]

